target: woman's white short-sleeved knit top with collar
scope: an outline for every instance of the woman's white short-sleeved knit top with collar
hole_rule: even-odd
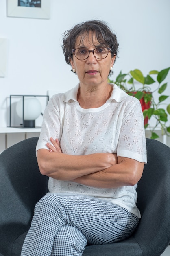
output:
[[[113,91],[99,108],[84,109],[77,101],[79,84],[48,102],[36,150],[47,148],[50,137],[58,138],[61,150],[70,155],[117,153],[146,163],[144,118],[138,99],[110,83]],[[49,178],[51,193],[78,193],[108,200],[140,218],[135,186],[100,189]]]

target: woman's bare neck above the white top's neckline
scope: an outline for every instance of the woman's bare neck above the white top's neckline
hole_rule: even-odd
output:
[[[80,87],[77,100],[82,108],[99,108],[110,98],[113,87],[107,83],[102,87]]]

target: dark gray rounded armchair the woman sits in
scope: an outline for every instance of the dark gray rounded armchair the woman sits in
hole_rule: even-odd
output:
[[[0,154],[0,255],[20,256],[34,206],[48,191],[35,156],[38,137]],[[138,183],[142,214],[134,234],[119,243],[89,245],[83,256],[160,256],[170,242],[170,148],[146,139],[148,164]],[[42,255],[43,256],[43,255]],[[45,255],[44,255],[45,256]]]

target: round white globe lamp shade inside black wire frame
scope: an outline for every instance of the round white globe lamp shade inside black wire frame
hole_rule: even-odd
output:
[[[17,115],[23,118],[23,98],[17,102]],[[24,97],[24,120],[35,120],[41,114],[41,103],[35,97]]]

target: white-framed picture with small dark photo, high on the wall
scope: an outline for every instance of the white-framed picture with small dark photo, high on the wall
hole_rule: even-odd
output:
[[[50,0],[7,0],[7,16],[49,19]]]

